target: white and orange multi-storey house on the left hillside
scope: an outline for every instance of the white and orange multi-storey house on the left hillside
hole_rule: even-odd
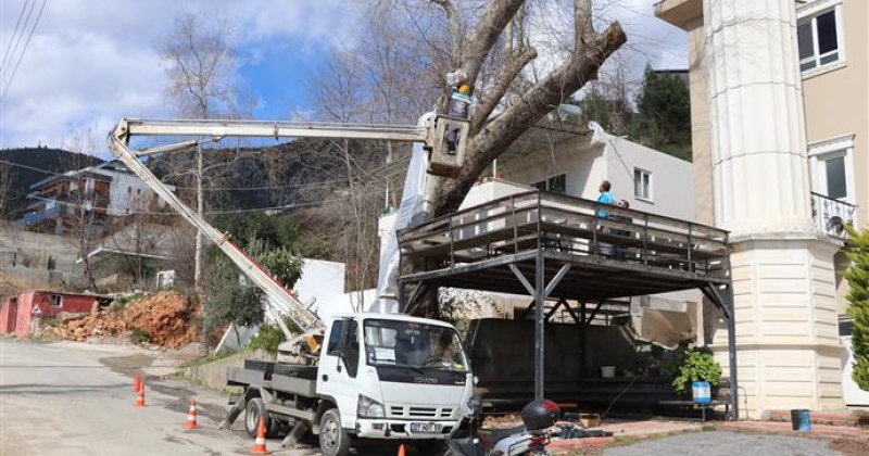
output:
[[[108,232],[113,219],[163,206],[118,161],[50,176],[32,185],[27,198],[32,203],[18,223],[54,235],[78,231],[86,225],[99,236]]]

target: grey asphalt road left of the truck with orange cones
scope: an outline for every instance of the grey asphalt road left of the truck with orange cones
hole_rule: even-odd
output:
[[[0,339],[0,455],[249,454],[253,442],[240,420],[231,432],[217,429],[226,409],[217,394],[151,378],[148,407],[135,408],[133,372],[152,363],[160,360],[125,347]],[[188,431],[191,398],[200,429]],[[282,449],[279,440],[268,448],[317,454]]]

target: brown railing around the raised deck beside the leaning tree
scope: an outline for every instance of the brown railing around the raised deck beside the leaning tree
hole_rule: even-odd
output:
[[[728,267],[725,230],[537,191],[469,207],[399,236],[403,253],[425,258],[429,270],[536,249],[709,277],[727,276]]]

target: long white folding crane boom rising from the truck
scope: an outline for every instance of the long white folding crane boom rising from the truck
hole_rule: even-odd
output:
[[[458,122],[464,129],[462,121],[446,118],[451,123]],[[188,207],[163,182],[144,166],[139,156],[152,153],[166,153],[173,150],[187,149],[198,143],[197,140],[177,144],[156,147],[144,150],[133,150],[129,140],[134,136],[169,136],[194,137],[221,140],[225,137],[247,138],[341,138],[341,139],[374,139],[399,142],[420,142],[427,149],[438,149],[443,138],[445,123],[438,125],[437,117],[428,125],[401,126],[401,125],[358,125],[358,124],[328,124],[328,123],[297,123],[297,122],[269,122],[269,121],[227,121],[227,119],[127,119],[124,118],[109,135],[112,153],[122,161],[146,185],[148,185],[172,208],[178,212],[185,220],[223,251],[236,266],[253,283],[260,287],[265,294],[279,306],[289,309],[289,317],[304,331],[320,327],[322,322],[316,315],[308,311],[304,304],[280,282],[275,280],[253,258],[234,244],[227,235],[221,232],[202,218],[196,211]],[[275,317],[287,340],[292,333],[287,328],[280,312],[270,304],[267,311]]]

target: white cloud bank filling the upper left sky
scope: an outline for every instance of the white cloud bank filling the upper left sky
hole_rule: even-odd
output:
[[[24,1],[0,5],[2,51]],[[331,42],[352,15],[339,0],[50,0],[0,105],[0,148],[60,145],[84,127],[101,132],[124,116],[172,115],[154,43],[188,11],[232,21],[242,63],[252,65],[262,64],[264,47],[304,52],[310,43]]]

